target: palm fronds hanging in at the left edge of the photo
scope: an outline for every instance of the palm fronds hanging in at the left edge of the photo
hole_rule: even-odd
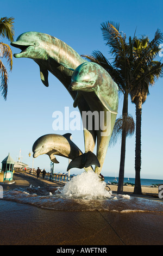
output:
[[[8,38],[10,41],[14,40],[14,18],[3,17],[0,19],[0,35],[2,38]],[[0,42],[1,59],[5,57],[9,63],[10,71],[12,70],[12,51],[9,45]],[[2,60],[0,59],[0,72],[1,72],[1,86],[0,90],[4,99],[7,99],[8,92],[8,72]]]

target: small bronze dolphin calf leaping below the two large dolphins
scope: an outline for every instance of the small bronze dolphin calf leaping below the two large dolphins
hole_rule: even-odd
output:
[[[87,168],[90,167],[93,170],[91,167],[92,164],[98,164],[99,166],[99,162],[95,154],[92,152],[83,154],[77,145],[72,142],[71,133],[66,133],[65,135],[43,135],[35,141],[32,150],[34,158],[39,155],[46,154],[53,163],[59,163],[54,155],[64,156],[68,159],[75,160],[74,164],[72,161],[70,162],[71,164],[69,169],[77,167],[88,170]]]

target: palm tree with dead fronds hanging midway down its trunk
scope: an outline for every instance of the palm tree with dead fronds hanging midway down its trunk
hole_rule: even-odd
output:
[[[126,155],[126,137],[134,133],[134,120],[128,115],[128,95],[130,92],[130,62],[133,59],[133,41],[129,38],[126,42],[126,34],[119,32],[120,24],[106,22],[101,24],[106,46],[109,46],[109,53],[114,57],[110,64],[100,51],[94,51],[92,56],[83,55],[92,62],[96,62],[109,72],[113,80],[117,83],[120,93],[123,94],[122,117],[116,120],[112,138],[115,139],[121,132],[121,160],[118,179],[118,193],[123,192],[124,163]],[[127,125],[128,124],[128,125]],[[128,129],[128,127],[130,128]],[[116,136],[115,136],[116,135]],[[113,139],[111,138],[111,141]]]

